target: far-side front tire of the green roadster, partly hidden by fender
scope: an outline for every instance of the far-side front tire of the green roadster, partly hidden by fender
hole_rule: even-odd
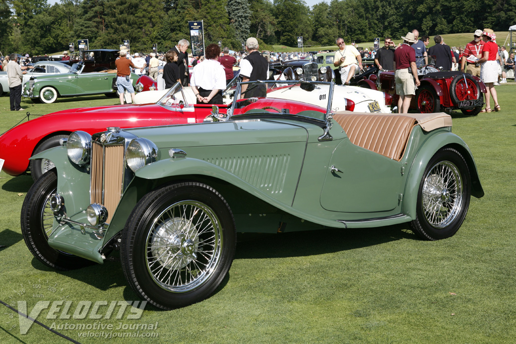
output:
[[[57,251],[49,246],[54,215],[49,208],[50,196],[56,192],[57,175],[49,171],[30,187],[22,205],[20,223],[29,251],[46,266],[56,270],[72,270],[93,264],[91,261]]]

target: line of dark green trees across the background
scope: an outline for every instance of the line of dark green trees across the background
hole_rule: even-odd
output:
[[[0,52],[38,55],[88,39],[90,48],[133,51],[157,43],[167,51],[189,38],[188,21],[204,21],[205,44],[222,41],[241,50],[249,36],[271,45],[334,45],[400,36],[507,30],[516,21],[516,0],[331,0],[310,8],[303,0],[4,0],[0,3]]]

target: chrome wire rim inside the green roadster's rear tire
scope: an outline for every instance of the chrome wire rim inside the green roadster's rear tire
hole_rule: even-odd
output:
[[[457,166],[441,161],[425,176],[423,211],[430,225],[446,227],[462,208],[462,178]]]

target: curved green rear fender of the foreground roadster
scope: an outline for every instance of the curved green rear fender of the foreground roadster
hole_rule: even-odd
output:
[[[407,177],[401,211],[412,219],[416,217],[417,192],[428,162],[439,150],[445,147],[456,149],[466,160],[467,167],[470,170],[471,194],[477,198],[481,198],[484,195],[477,166],[470,148],[457,135],[453,133],[440,133],[430,137],[423,144],[412,162],[412,167]]]

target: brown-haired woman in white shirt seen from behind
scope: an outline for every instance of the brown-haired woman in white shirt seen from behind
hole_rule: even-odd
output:
[[[206,47],[206,60],[193,67],[190,86],[196,95],[197,104],[222,104],[222,90],[225,89],[225,72],[219,63],[220,47],[210,44]]]

